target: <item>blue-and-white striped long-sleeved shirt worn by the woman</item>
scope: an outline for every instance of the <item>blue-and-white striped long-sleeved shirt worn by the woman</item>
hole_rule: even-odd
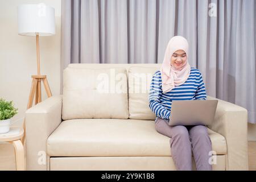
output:
[[[155,113],[156,118],[166,119],[167,122],[170,119],[172,101],[206,100],[206,98],[203,77],[199,69],[196,68],[191,68],[189,77],[184,84],[175,86],[174,89],[167,93],[162,92],[161,72],[156,71],[152,77],[148,96],[149,107]]]

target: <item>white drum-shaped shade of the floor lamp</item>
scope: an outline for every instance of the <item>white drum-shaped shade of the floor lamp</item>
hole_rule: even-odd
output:
[[[18,34],[49,36],[55,34],[55,10],[44,3],[18,6]]]

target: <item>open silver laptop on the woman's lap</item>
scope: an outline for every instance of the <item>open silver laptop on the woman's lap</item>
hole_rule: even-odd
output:
[[[172,101],[170,126],[210,125],[218,100]]]

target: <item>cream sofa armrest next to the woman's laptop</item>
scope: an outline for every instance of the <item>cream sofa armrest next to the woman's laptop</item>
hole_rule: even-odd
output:
[[[209,129],[223,135],[228,148],[227,170],[248,170],[247,110],[241,106],[218,100],[214,122]]]

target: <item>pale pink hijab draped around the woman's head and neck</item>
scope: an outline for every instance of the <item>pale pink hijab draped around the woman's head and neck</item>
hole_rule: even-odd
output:
[[[175,69],[171,64],[172,54],[177,50],[183,50],[187,54],[187,60],[181,68]],[[191,67],[188,63],[188,41],[183,36],[174,36],[169,41],[160,72],[162,75],[163,93],[170,92],[175,86],[184,84],[190,74]]]

